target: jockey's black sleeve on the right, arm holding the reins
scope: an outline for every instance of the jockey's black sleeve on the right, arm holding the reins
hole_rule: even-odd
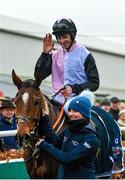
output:
[[[73,92],[76,94],[79,94],[85,89],[89,89],[90,91],[96,91],[99,88],[99,73],[97,70],[95,59],[92,54],[89,54],[87,56],[84,66],[88,81],[83,84],[74,84],[72,86]]]

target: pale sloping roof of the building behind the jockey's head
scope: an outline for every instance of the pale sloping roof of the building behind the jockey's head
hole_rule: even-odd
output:
[[[41,39],[51,31],[51,27],[0,15],[0,30]],[[77,41],[93,50],[125,56],[125,45],[119,43],[79,34]]]

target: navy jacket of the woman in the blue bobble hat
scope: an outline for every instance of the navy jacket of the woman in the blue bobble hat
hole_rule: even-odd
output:
[[[95,179],[95,159],[99,140],[93,124],[90,122],[86,126],[81,126],[77,132],[72,132],[67,127],[60,135],[56,135],[49,125],[48,116],[41,120],[43,121],[41,132],[46,134],[48,142],[41,142],[39,147],[59,161],[58,178]]]

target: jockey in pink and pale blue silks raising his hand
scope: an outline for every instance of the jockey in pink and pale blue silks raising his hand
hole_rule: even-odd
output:
[[[35,78],[43,80],[52,74],[53,93],[61,90],[55,100],[61,104],[85,89],[96,91],[100,83],[96,62],[85,46],[76,43],[74,22],[68,18],[58,19],[52,30],[60,47],[54,50],[52,35],[46,34],[42,54],[35,65]]]

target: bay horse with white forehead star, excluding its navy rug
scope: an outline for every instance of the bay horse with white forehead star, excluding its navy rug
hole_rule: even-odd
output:
[[[24,148],[24,161],[28,174],[33,179],[54,179],[57,173],[57,161],[44,151],[40,153],[39,158],[33,154],[35,143],[39,139],[37,128],[42,116],[42,110],[49,111],[51,123],[55,125],[54,129],[58,129],[58,124],[55,124],[54,121],[60,112],[60,106],[53,105],[40,91],[40,79],[22,81],[14,70],[12,71],[12,79],[18,89],[14,100],[16,104],[15,115],[18,123],[17,136]]]

